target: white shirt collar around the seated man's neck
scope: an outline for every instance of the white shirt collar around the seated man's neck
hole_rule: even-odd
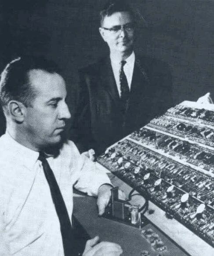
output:
[[[26,148],[22,144],[15,141],[15,139],[11,137],[8,131],[6,131],[4,134],[4,138],[7,147],[9,146],[11,156],[18,157],[19,163],[22,161],[22,163],[32,171],[34,164],[38,160],[39,152],[33,151],[30,148]]]

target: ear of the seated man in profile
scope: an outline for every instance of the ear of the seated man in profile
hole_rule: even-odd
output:
[[[25,105],[17,100],[11,100],[8,103],[8,111],[16,122],[21,123],[24,121],[25,109]]]

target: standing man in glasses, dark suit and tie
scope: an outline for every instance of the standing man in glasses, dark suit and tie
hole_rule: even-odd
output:
[[[97,154],[172,105],[167,65],[134,52],[136,22],[124,1],[111,1],[99,28],[110,55],[80,70],[72,139]],[[81,140],[80,140],[81,138]]]

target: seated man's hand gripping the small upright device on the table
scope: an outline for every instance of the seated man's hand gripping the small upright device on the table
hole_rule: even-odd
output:
[[[98,212],[99,215],[102,215],[105,212],[105,207],[108,205],[110,197],[111,197],[111,189],[112,186],[103,184],[98,189]]]

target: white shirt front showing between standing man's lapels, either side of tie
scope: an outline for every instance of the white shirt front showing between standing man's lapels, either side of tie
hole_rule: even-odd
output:
[[[118,93],[121,96],[120,92],[120,67],[121,67],[121,62],[118,61],[114,56],[110,56],[111,59],[111,65],[112,65],[112,70],[116,82],[116,86],[118,89]],[[132,81],[132,76],[133,76],[133,71],[134,71],[134,61],[135,61],[135,54],[134,52],[131,53],[130,56],[128,56],[127,59],[125,59],[126,64],[123,67],[124,73],[127,77],[127,82],[129,89],[131,90],[131,81]]]

